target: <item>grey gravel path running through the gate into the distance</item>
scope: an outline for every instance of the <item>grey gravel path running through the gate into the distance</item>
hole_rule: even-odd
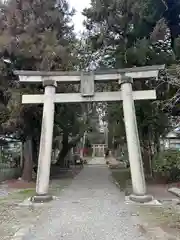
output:
[[[94,159],[94,163],[99,160]],[[91,162],[92,163],[92,162]],[[86,166],[23,240],[145,240],[104,165]]]

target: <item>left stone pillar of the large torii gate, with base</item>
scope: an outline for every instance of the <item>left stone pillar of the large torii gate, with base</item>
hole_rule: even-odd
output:
[[[38,158],[38,172],[36,182],[36,195],[32,197],[34,202],[46,202],[52,200],[48,194],[51,152],[53,140],[54,122],[54,98],[57,83],[52,80],[44,80],[44,106],[41,127],[41,139]]]

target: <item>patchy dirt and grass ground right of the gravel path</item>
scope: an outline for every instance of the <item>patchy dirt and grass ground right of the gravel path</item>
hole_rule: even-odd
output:
[[[124,191],[126,195],[132,192],[128,170],[112,170],[112,176],[119,184],[120,191]],[[137,204],[132,207],[132,214],[135,216],[135,222],[139,221],[140,229],[160,235],[157,239],[180,239],[180,199],[168,192],[171,186],[177,187],[179,183],[147,184],[148,194],[151,194],[161,205]]]

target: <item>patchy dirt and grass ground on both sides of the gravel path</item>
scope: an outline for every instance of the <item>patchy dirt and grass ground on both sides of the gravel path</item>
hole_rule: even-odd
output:
[[[71,184],[72,179],[81,169],[61,172],[50,181],[50,193],[58,195]],[[128,171],[112,170],[114,179],[120,184],[120,191],[126,195],[131,192],[130,174]],[[172,184],[171,186],[178,186]],[[162,205],[132,207],[132,215],[135,222],[139,222],[142,232],[154,232],[161,235],[157,239],[177,240],[180,239],[180,205],[174,195],[167,190],[169,185],[148,184],[148,193],[152,194]],[[37,221],[48,205],[41,207],[19,206],[19,203],[35,194],[35,182],[11,180],[0,185],[0,240],[11,240],[12,236],[21,228],[32,225]],[[138,218],[138,220],[137,220]],[[163,234],[167,234],[166,237]],[[152,238],[153,239],[153,238]],[[156,239],[156,238],[154,238]]]

